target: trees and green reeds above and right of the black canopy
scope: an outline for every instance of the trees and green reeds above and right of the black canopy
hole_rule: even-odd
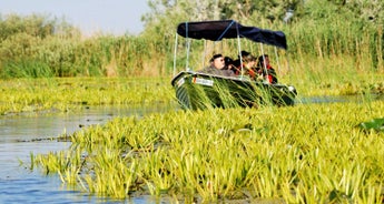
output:
[[[174,33],[175,22],[210,19],[235,19],[244,24],[283,30],[294,59],[302,53],[316,58],[356,55],[356,65],[368,58],[374,70],[383,71],[383,12],[378,1],[283,1],[254,0],[233,2],[150,1],[152,12],[144,20],[165,35]],[[200,7],[205,7],[201,9]],[[287,10],[293,18],[284,23]],[[219,14],[215,14],[218,12]],[[345,19],[348,19],[345,21]],[[360,68],[358,68],[360,69]]]

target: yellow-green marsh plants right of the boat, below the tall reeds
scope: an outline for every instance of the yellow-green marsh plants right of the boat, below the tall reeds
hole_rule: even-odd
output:
[[[370,62],[366,60],[363,63]],[[366,65],[357,68],[353,57],[332,55],[314,60],[303,54],[289,67],[289,73],[279,72],[279,81],[294,85],[302,95],[383,93],[383,73]]]

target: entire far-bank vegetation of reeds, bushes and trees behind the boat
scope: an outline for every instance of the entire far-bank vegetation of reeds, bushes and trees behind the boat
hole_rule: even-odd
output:
[[[177,23],[205,19],[235,19],[285,31],[298,74],[303,69],[306,75],[318,74],[328,67],[327,60],[348,62],[343,69],[361,73],[384,72],[383,2],[148,2],[151,10],[144,17],[146,30],[140,35],[85,38],[65,20],[49,16],[0,16],[0,78],[170,75]],[[287,11],[293,11],[291,19]],[[317,68],[303,68],[303,60]]]

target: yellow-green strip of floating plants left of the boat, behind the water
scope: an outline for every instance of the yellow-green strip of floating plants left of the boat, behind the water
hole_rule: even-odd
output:
[[[69,78],[2,80],[0,114],[79,110],[85,105],[170,103],[168,79]]]

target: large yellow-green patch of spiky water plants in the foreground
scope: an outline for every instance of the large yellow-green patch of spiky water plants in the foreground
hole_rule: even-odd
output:
[[[73,133],[71,149],[33,163],[118,198],[381,203],[383,134],[357,125],[383,110],[365,102],[118,118]]]

